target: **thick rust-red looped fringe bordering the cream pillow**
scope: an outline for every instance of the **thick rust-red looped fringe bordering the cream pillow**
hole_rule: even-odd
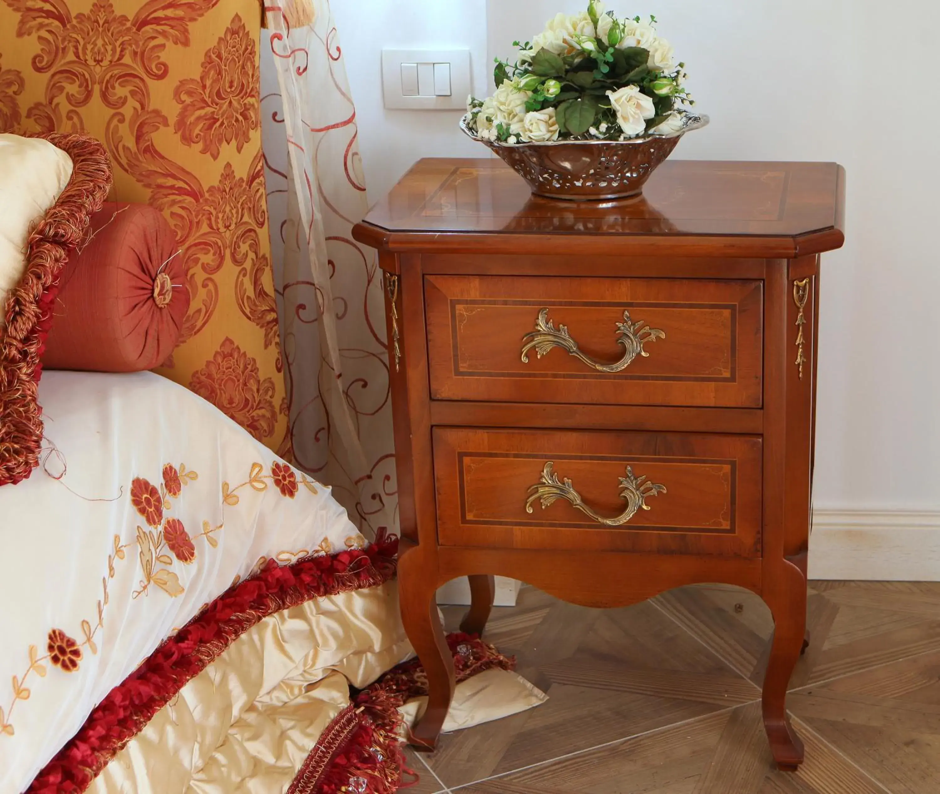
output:
[[[7,323],[0,329],[0,486],[15,485],[39,465],[42,409],[37,385],[59,273],[111,189],[111,162],[94,138],[66,132],[36,137],[65,151],[72,173],[65,190],[29,235],[26,272],[0,307]]]

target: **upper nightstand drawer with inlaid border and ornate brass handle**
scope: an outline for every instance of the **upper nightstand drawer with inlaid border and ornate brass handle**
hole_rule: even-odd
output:
[[[425,278],[435,399],[760,408],[763,285]]]

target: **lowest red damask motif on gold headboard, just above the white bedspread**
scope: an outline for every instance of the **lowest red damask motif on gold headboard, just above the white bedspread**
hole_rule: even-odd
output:
[[[196,370],[189,387],[199,397],[234,419],[258,441],[274,432],[274,381],[261,378],[258,360],[231,339],[222,340],[219,350]]]

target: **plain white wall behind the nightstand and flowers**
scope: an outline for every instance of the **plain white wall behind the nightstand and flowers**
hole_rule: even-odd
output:
[[[484,156],[459,113],[385,111],[386,47],[469,47],[475,93],[494,54],[583,0],[334,2],[370,195],[416,159]],[[838,161],[847,243],[823,258],[816,506],[940,511],[940,103],[929,0],[608,0],[655,13],[712,126],[675,156]]]

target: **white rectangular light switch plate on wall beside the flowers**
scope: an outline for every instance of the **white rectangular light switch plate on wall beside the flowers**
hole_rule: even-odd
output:
[[[418,85],[421,89],[417,96],[405,94],[406,90],[411,90],[411,86],[402,86],[402,64],[417,65]],[[445,89],[441,77],[445,72],[438,69],[435,73],[434,64],[449,65],[450,93],[447,96],[431,95],[434,90]],[[406,67],[404,73],[410,75],[411,67]],[[470,51],[383,50],[382,84],[385,107],[393,110],[465,110],[467,95],[471,92]]]

